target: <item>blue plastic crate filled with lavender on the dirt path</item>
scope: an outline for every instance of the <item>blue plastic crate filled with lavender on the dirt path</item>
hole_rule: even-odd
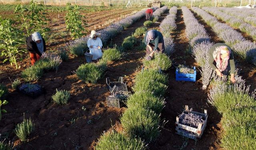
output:
[[[196,82],[196,67],[187,67],[179,65],[176,68],[176,81],[192,81]]]

